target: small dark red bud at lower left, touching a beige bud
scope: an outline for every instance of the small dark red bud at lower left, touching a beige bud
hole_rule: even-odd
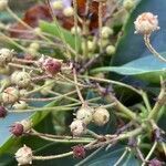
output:
[[[23,134],[23,125],[21,123],[15,123],[11,125],[10,132],[17,137],[21,136]]]

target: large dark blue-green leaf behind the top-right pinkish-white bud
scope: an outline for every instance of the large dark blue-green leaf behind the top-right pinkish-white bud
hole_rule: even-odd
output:
[[[157,52],[166,52],[165,9],[166,1],[163,0],[142,0],[139,2],[139,4],[132,12],[123,30],[123,37],[118,41],[117,50],[113,58],[112,65],[123,65],[127,62],[143,56],[147,56],[149,54],[148,50],[144,44],[143,37],[139,34],[134,34],[134,21],[136,20],[138,14],[143,12],[153,12],[154,14],[158,15],[160,30],[153,32],[151,41],[152,45],[157,50]]]

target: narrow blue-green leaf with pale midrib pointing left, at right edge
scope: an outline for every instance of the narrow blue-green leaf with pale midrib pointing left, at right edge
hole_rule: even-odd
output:
[[[92,72],[116,72],[122,75],[133,75],[144,81],[157,83],[160,76],[166,77],[166,63],[154,58],[154,55],[148,55],[121,66],[104,66]]]

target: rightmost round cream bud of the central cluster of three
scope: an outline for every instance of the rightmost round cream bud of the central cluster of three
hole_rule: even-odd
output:
[[[97,126],[103,126],[110,121],[110,113],[106,108],[100,106],[95,108],[95,112],[93,114],[93,122]]]

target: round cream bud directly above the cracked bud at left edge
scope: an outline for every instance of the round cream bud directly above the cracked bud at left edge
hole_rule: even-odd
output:
[[[18,85],[19,87],[27,87],[31,83],[31,76],[24,71],[15,71],[11,75],[11,82]]]

